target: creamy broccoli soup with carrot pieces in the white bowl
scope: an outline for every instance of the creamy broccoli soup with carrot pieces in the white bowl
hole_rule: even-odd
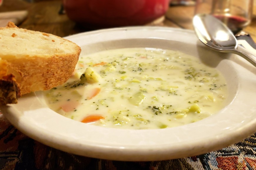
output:
[[[80,56],[74,75],[45,93],[49,107],[94,125],[157,129],[196,122],[225,106],[220,72],[177,51],[127,48]]]

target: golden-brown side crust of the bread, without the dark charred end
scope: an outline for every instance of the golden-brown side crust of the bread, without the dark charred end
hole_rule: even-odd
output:
[[[33,56],[9,60],[8,73],[15,75],[21,94],[48,90],[66,82],[72,76],[80,51],[66,56]],[[71,60],[72,59],[72,60]]]

